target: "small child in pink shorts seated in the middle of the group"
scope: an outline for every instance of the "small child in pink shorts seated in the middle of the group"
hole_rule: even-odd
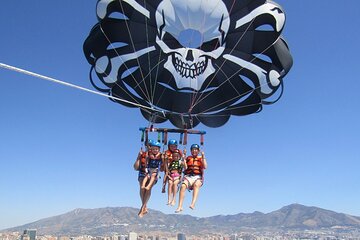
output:
[[[167,159],[167,179],[168,179],[168,205],[176,204],[176,193],[184,166],[183,156],[180,150],[175,149],[172,153],[171,161]]]

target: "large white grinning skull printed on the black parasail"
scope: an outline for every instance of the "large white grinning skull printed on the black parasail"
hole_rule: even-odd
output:
[[[225,49],[230,25],[225,4],[221,0],[191,3],[164,0],[157,8],[156,23],[159,32],[156,43],[168,55],[164,68],[174,76],[179,89],[200,90],[215,72],[212,59],[219,58]]]

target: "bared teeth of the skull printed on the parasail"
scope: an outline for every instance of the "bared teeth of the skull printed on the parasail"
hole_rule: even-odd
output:
[[[207,59],[198,63],[195,62],[192,64],[188,64],[186,62],[183,62],[181,59],[177,58],[176,56],[173,56],[173,64],[176,71],[182,77],[196,78],[197,76],[204,73],[207,67]]]

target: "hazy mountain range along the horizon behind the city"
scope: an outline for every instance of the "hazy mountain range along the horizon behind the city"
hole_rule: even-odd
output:
[[[292,204],[279,210],[264,214],[261,212],[239,213],[197,218],[184,214],[164,214],[150,210],[144,218],[137,216],[138,209],[129,207],[75,209],[71,212],[45,218],[23,226],[6,229],[23,231],[35,228],[40,235],[94,236],[127,233],[129,231],[229,233],[241,229],[256,230],[305,230],[332,227],[351,227],[360,229],[360,217],[300,204]]]

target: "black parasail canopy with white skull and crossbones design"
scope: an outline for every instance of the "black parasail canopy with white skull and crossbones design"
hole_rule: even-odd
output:
[[[96,13],[92,84],[153,123],[219,127],[259,112],[293,63],[269,0],[99,0]]]

